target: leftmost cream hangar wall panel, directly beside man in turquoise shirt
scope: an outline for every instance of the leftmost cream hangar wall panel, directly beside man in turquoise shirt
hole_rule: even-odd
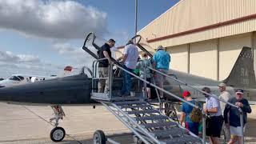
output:
[[[188,51],[187,45],[167,47],[166,51],[170,53],[170,69],[179,70],[187,73]]]

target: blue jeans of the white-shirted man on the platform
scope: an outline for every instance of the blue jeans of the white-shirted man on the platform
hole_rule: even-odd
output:
[[[126,70],[133,72],[132,69],[129,69],[128,67],[124,66]],[[130,74],[126,73],[126,71],[123,71],[123,81],[122,81],[122,94],[130,94],[130,85],[131,85],[131,76]]]

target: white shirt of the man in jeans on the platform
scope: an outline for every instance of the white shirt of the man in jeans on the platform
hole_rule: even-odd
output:
[[[138,48],[133,44],[125,46],[123,54],[127,54],[125,66],[129,69],[135,69],[138,61]]]

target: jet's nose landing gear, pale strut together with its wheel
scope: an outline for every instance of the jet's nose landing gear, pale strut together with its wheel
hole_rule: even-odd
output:
[[[54,110],[54,118],[50,118],[50,122],[54,124],[54,129],[50,131],[50,139],[54,142],[61,142],[65,138],[66,132],[62,127],[58,127],[58,120],[65,116],[62,106],[51,106]],[[55,121],[55,122],[53,122]]]

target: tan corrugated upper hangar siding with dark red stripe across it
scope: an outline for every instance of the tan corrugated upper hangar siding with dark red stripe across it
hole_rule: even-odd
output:
[[[152,36],[153,33],[157,34],[156,37],[159,38],[218,22],[226,22],[250,14],[256,14],[255,0],[183,0],[139,31],[139,34],[144,38],[152,39],[154,38]],[[150,45],[164,43],[166,46],[175,46],[233,34],[243,34],[256,30],[255,23],[256,19],[253,19],[238,24],[222,26],[214,30],[198,32],[198,34],[187,34],[152,42]]]

